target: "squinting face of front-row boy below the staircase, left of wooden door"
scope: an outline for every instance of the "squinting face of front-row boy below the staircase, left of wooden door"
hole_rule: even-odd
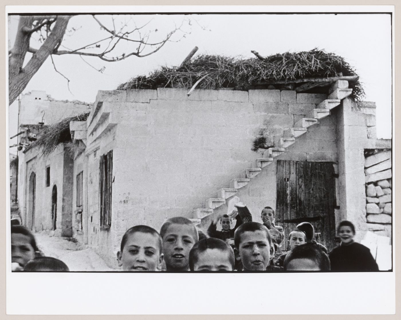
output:
[[[274,248],[265,231],[245,231],[241,234],[239,256],[245,270],[264,271],[270,263]]]

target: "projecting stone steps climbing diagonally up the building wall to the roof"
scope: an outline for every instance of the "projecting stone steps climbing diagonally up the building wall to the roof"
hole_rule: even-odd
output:
[[[330,115],[331,109],[341,103],[341,100],[348,97],[352,93],[352,89],[348,89],[348,81],[337,80],[331,87],[326,100],[322,101],[315,109],[310,111],[307,117],[300,119],[293,128],[284,131],[284,136],[280,138],[277,148],[269,148],[263,152],[263,158],[256,160],[254,168],[245,169],[245,178],[233,179],[229,188],[222,188],[217,191],[218,198],[209,198],[205,201],[205,208],[198,208],[192,211],[192,219],[194,225],[202,222],[202,219],[213,214],[213,209],[224,205],[227,199],[235,196],[238,190],[246,186],[251,179],[257,176],[265,166],[273,162],[273,158],[279,156],[286,151],[286,148],[295,143],[296,138],[305,134],[308,127],[318,124],[319,120]]]

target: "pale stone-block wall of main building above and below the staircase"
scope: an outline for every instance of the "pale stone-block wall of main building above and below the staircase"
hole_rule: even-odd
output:
[[[110,263],[115,263],[114,242],[129,227],[145,224],[160,230],[167,218],[193,218],[194,209],[204,208],[209,198],[219,198],[219,189],[229,188],[233,179],[245,178],[245,169],[254,168],[257,159],[263,158],[262,149],[252,151],[262,130],[266,144],[278,144],[284,131],[294,126],[294,117],[307,115],[327,98],[291,90],[196,89],[190,96],[187,93],[188,89],[170,88],[103,91],[95,101],[93,113],[102,103],[99,115],[91,117],[91,126],[101,128],[109,118],[115,126],[97,140],[88,139],[87,150],[97,152],[88,156],[87,238],[88,245],[110,257]],[[280,159],[336,162],[336,121],[329,118],[298,137]],[[97,225],[99,156],[111,149],[112,223],[105,231]],[[241,201],[249,203],[253,212],[276,206],[276,169],[272,161],[239,190]],[[372,198],[377,198],[377,192]],[[378,198],[372,204],[377,206],[376,215],[385,211],[377,205]]]

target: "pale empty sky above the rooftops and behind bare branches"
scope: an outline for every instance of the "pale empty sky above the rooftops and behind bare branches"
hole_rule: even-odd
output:
[[[111,26],[111,16],[98,16]],[[126,20],[118,16],[115,24]],[[137,75],[146,75],[160,66],[179,65],[188,53],[197,46],[196,54],[213,54],[254,57],[251,50],[262,56],[287,51],[309,51],[324,49],[344,57],[356,68],[365,88],[365,101],[377,105],[377,137],[391,138],[391,15],[389,14],[192,14],[192,15],[136,15],[130,24],[137,26],[150,23],[145,29],[158,31],[153,35],[155,41],[165,36],[184,19],[184,33],[178,32],[157,53],[144,58],[129,57],[123,61],[107,63],[96,57],[85,57],[87,64],[78,55],[54,56],[57,70],[70,80],[57,73],[51,59],[47,59],[32,77],[22,92],[43,90],[54,99],[81,100],[92,103],[97,91],[114,90],[120,83]],[[12,47],[18,16],[8,19],[8,44]],[[88,15],[71,18],[63,46],[77,49],[107,36],[97,22]],[[31,47],[40,43],[31,41]],[[103,44],[102,44],[103,46]],[[103,48],[103,47],[102,47]],[[61,48],[63,49],[63,48]],[[126,53],[130,45],[122,45],[118,53]],[[28,59],[26,59],[28,61]],[[105,67],[103,73],[97,71]],[[9,110],[10,136],[17,132],[18,105],[14,102]],[[14,140],[10,144],[16,143]],[[16,153],[16,148],[10,152]]]

